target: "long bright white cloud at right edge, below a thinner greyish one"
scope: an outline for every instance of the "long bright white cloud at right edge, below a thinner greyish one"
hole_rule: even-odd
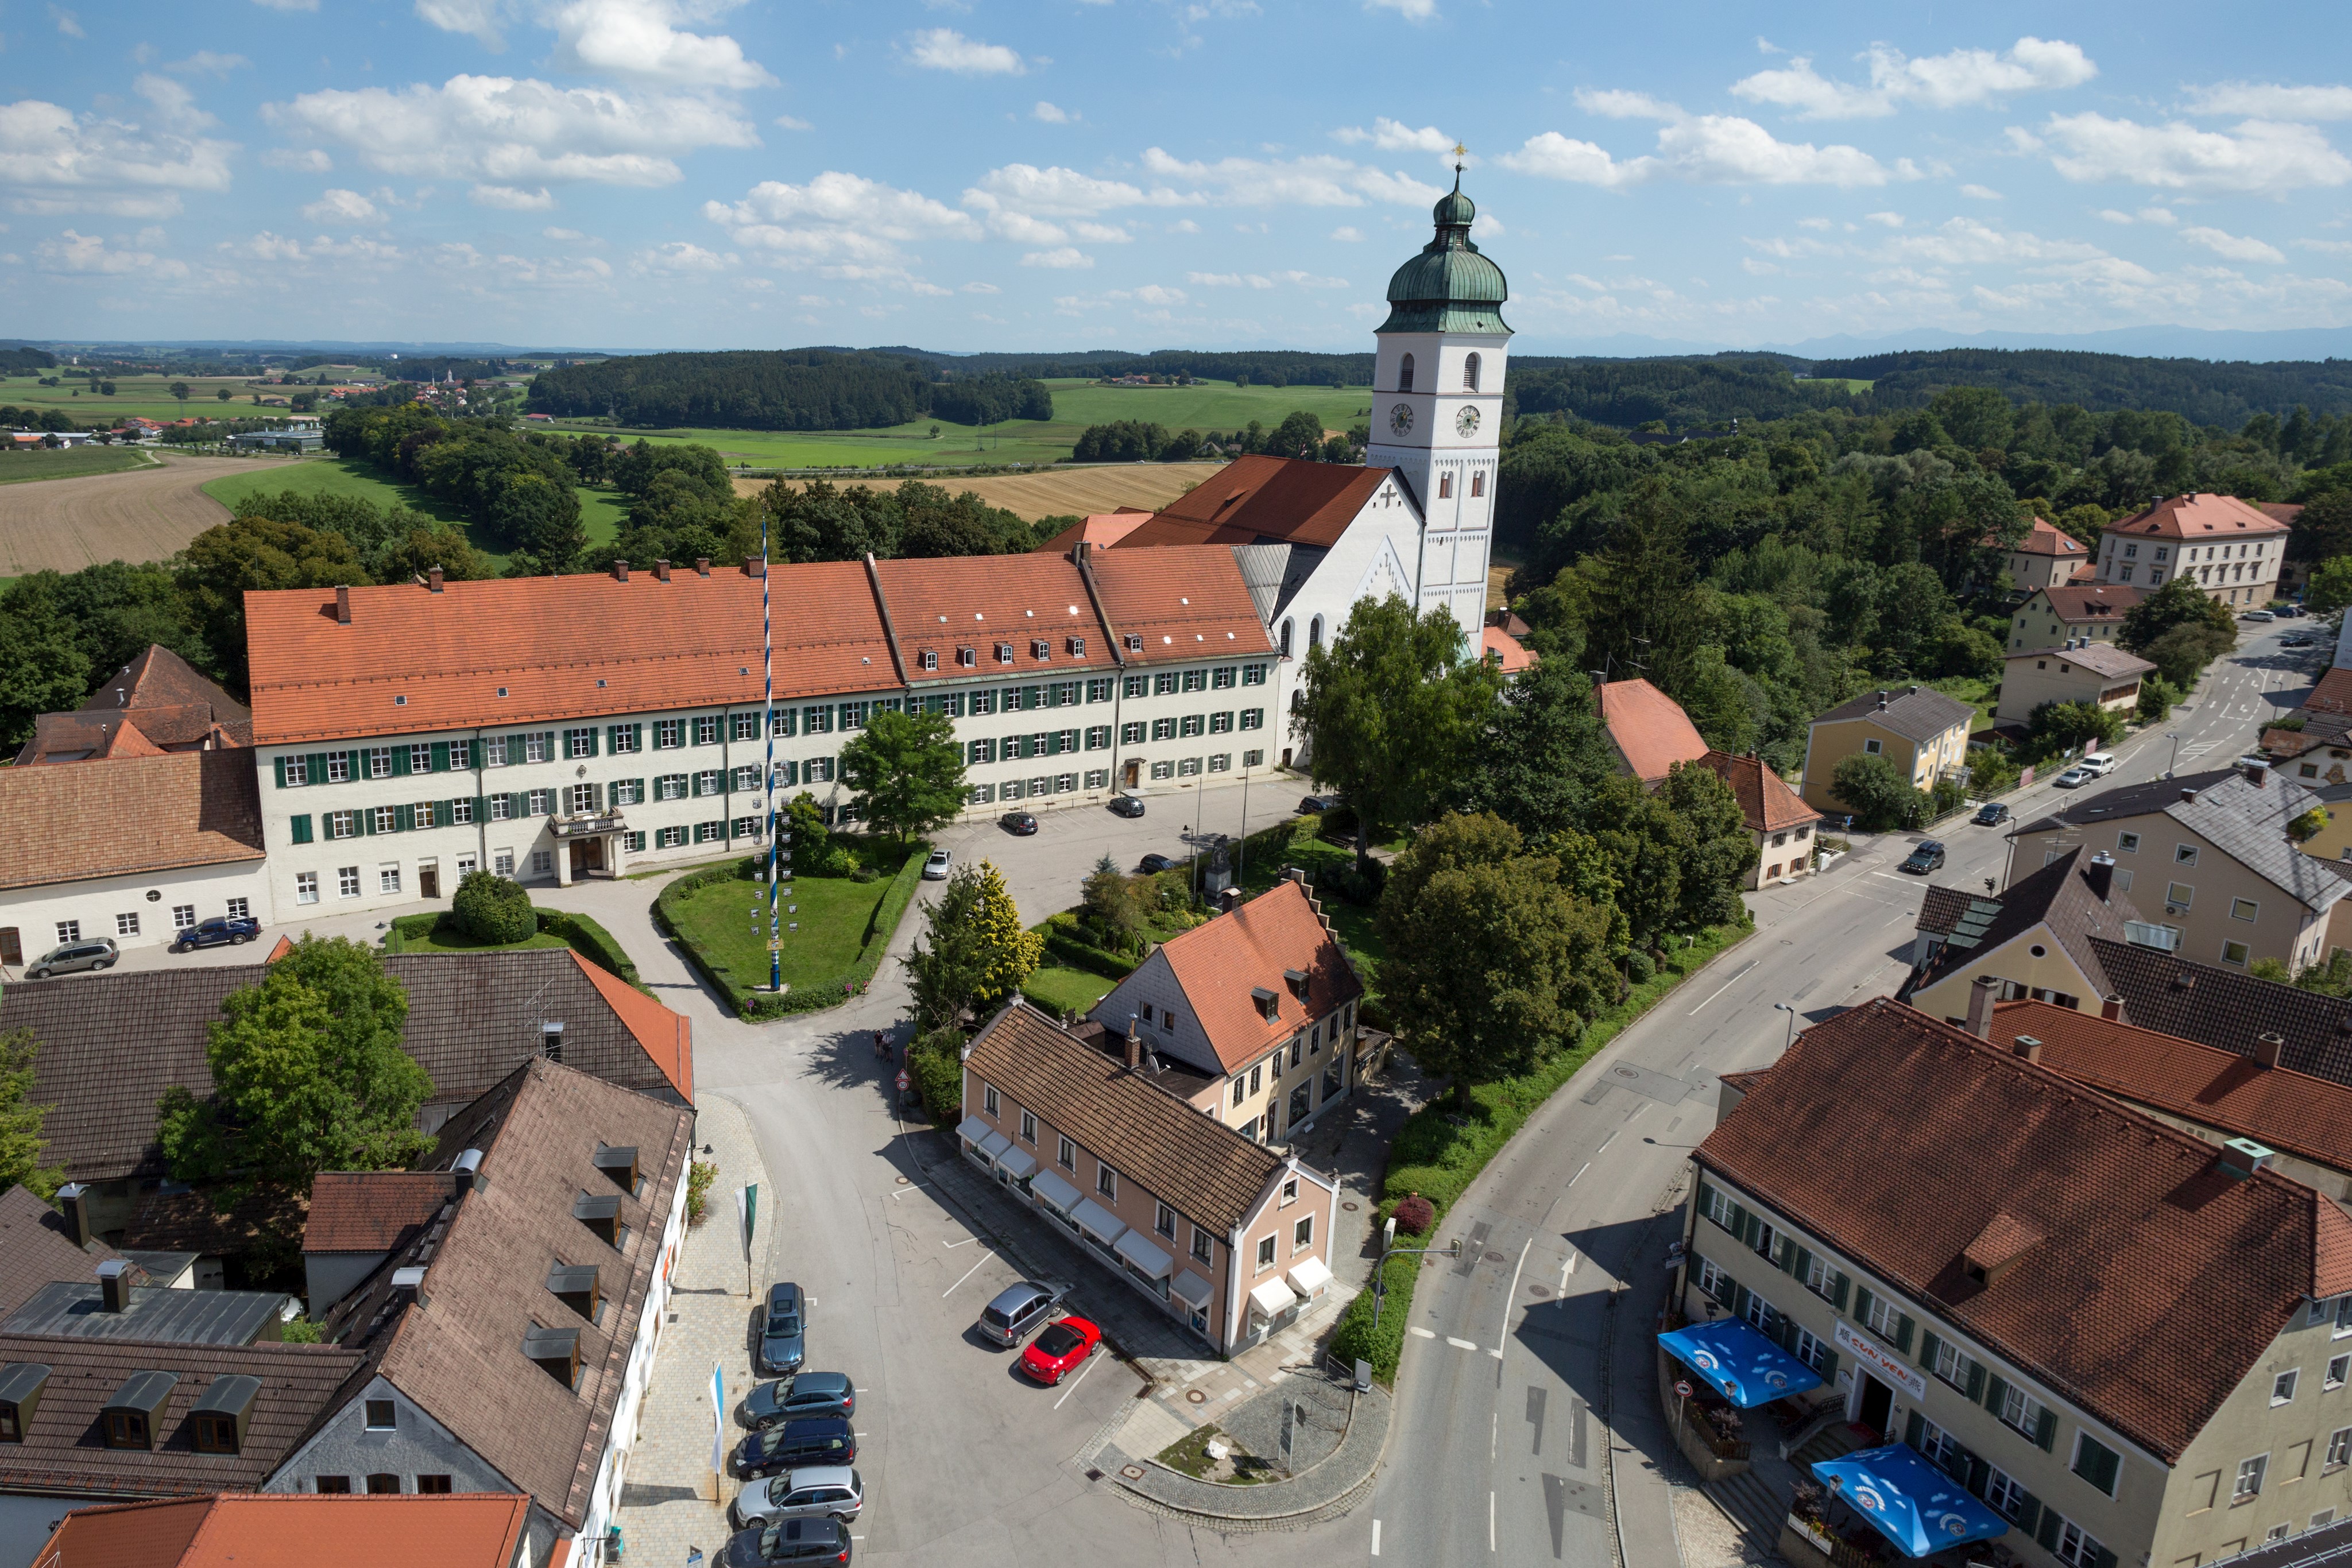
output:
[[[2310,125],[2246,120],[2230,132],[2204,132],[2180,120],[2138,125],[2082,113],[2051,115],[2042,132],[2065,148],[2051,165],[2072,181],[2122,179],[2216,195],[2284,195],[2352,181],[2352,160]]]

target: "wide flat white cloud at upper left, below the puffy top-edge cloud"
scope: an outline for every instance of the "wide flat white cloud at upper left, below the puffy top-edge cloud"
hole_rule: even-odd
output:
[[[682,179],[675,153],[757,146],[753,127],[717,99],[623,96],[510,75],[454,75],[442,87],[414,82],[400,92],[306,92],[263,115],[339,141],[386,174],[513,186],[670,186]]]

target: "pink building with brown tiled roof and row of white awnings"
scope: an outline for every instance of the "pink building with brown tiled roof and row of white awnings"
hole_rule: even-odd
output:
[[[1338,1175],[1164,1091],[1134,1034],[1110,1056],[1014,1001],[964,1053],[962,1103],[967,1159],[1216,1349],[1329,1298]]]

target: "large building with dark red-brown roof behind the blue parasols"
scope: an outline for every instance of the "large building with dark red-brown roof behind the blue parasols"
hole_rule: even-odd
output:
[[[2204,1563],[2352,1505],[2352,1218],[2258,1152],[1879,999],[1691,1159],[1682,1312],[1811,1363],[2013,1561]]]

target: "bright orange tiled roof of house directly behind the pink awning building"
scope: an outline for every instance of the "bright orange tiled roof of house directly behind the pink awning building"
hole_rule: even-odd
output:
[[[1310,1018],[1324,1018],[1364,994],[1364,983],[1324,924],[1322,910],[1315,907],[1305,884],[1294,879],[1277,882],[1232,914],[1218,914],[1162,943],[1160,957],[1183,987],[1185,1004],[1200,1018],[1225,1072],[1247,1067]],[[1291,969],[1303,969],[1308,976],[1303,1004],[1284,980]],[[1272,1018],[1251,1001],[1251,987],[1275,992]],[[1127,1027],[1124,1018],[1108,1023]]]

